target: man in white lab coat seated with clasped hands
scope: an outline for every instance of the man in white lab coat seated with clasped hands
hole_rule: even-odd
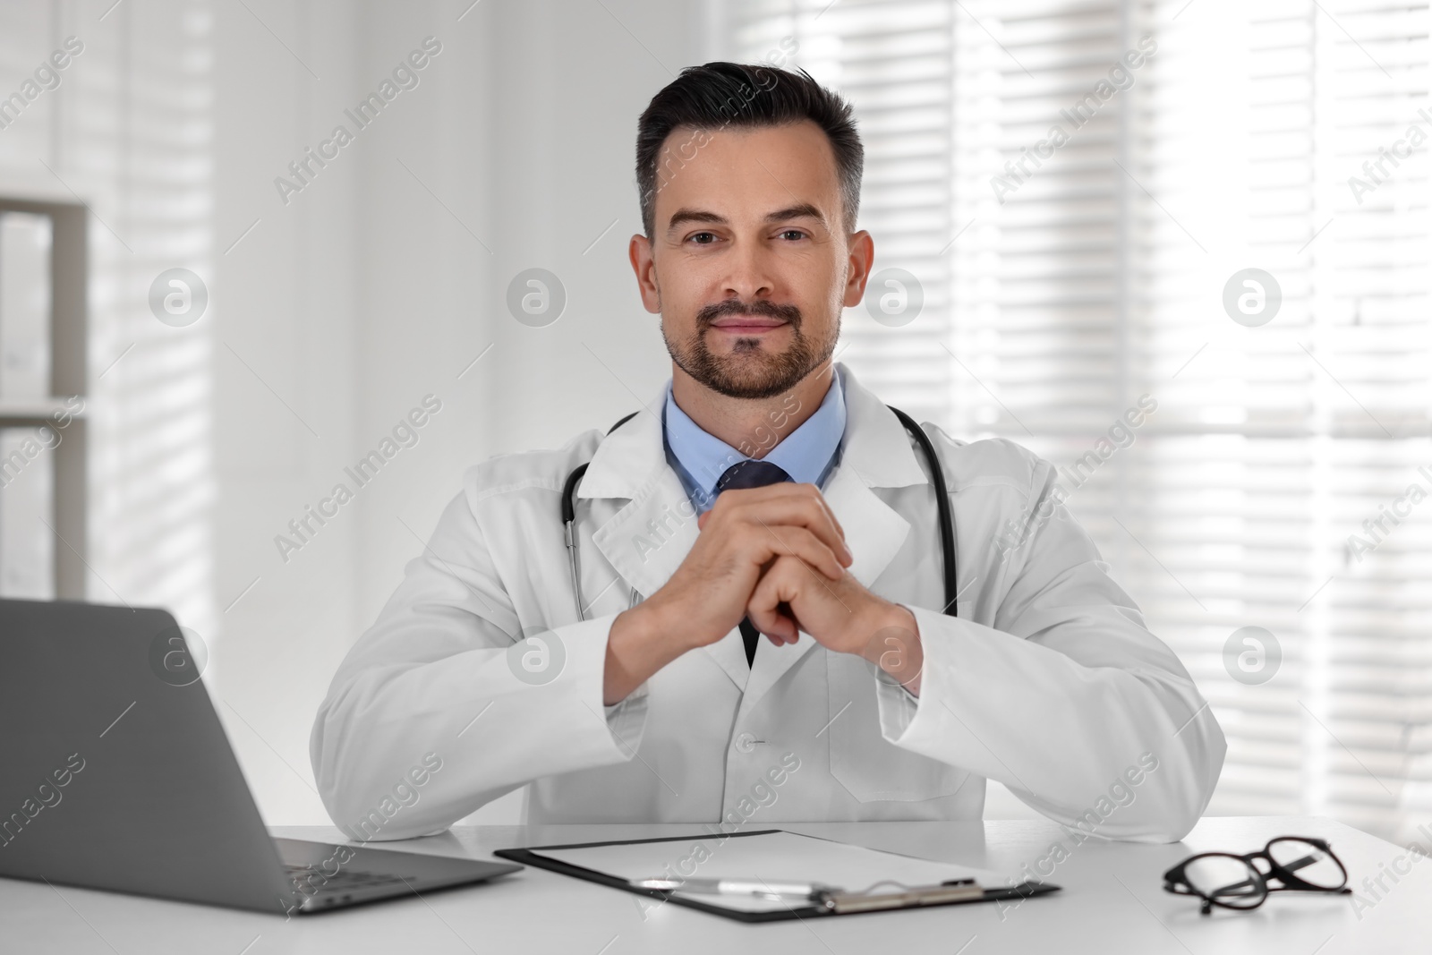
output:
[[[1226,749],[1189,673],[1047,461],[924,425],[945,597],[931,461],[831,361],[874,261],[861,168],[803,73],[710,63],[652,100],[630,259],[672,379],[467,472],[314,724],[351,836],[514,789],[531,823],[978,819],[985,779],[1100,836],[1189,832]]]

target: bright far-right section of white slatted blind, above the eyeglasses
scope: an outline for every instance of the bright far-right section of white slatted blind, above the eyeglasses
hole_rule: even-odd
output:
[[[1167,570],[1133,564],[1131,588],[1227,732],[1213,812],[1408,839],[1432,541],[1411,520],[1358,561],[1348,538],[1409,483],[1432,490],[1416,474],[1432,462],[1425,153],[1360,205],[1348,180],[1426,103],[1428,9],[1216,0],[1186,16],[1160,31],[1133,123],[1148,189],[1134,367],[1156,391],[1189,364],[1131,475],[1128,527]],[[1282,286],[1266,325],[1223,311],[1243,268]],[[1283,649],[1260,686],[1224,666],[1243,626]]]

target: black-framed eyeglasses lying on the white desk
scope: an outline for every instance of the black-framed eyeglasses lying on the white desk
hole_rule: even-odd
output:
[[[1260,868],[1263,863],[1266,868]],[[1269,885],[1270,881],[1279,885]],[[1269,892],[1335,892],[1346,895],[1348,869],[1322,839],[1279,836],[1262,852],[1201,852],[1164,872],[1164,892],[1197,895],[1207,915],[1214,905],[1256,909]]]

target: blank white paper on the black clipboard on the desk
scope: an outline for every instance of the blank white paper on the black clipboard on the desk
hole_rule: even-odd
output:
[[[537,855],[629,882],[650,878],[768,879],[818,882],[859,892],[876,882],[932,886],[951,879],[974,879],[984,888],[1004,888],[1010,879],[991,869],[974,869],[952,862],[932,862],[846,842],[833,842],[795,832],[753,835],[707,835],[662,842],[624,842],[574,849],[533,849]],[[875,892],[895,892],[881,885]],[[742,912],[799,908],[790,899],[762,899],[710,893],[676,892],[707,905]]]

